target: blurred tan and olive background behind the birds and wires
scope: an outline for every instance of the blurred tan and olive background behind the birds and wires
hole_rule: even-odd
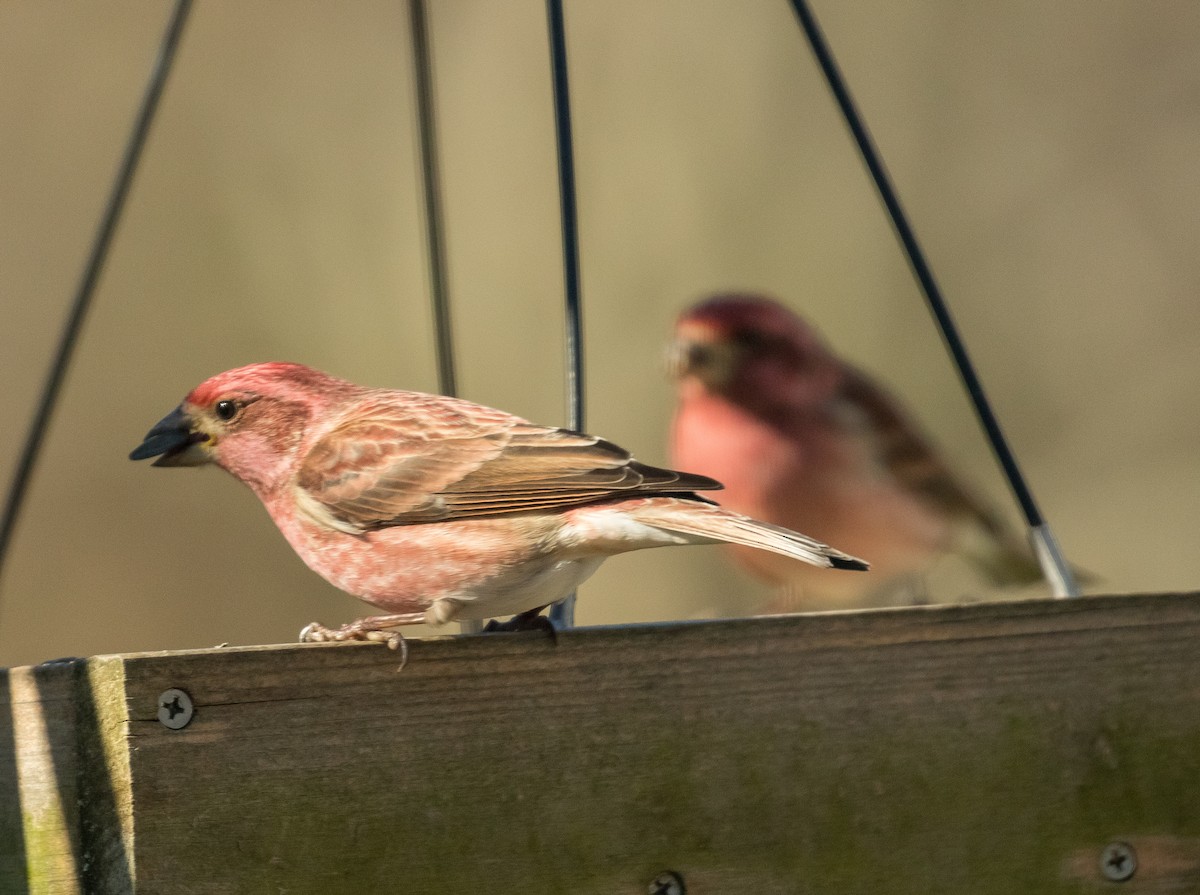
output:
[[[1093,590],[1194,588],[1200,6],[815,11],[1062,546]],[[790,6],[565,12],[588,430],[665,462],[674,316],[763,290],[1010,507]],[[4,487],[168,13],[0,2]],[[461,391],[562,424],[545,7],[433,0],[430,28]],[[287,642],[364,614],[232,477],[126,455],[246,362],[436,390],[414,121],[404,2],[197,4],[0,579],[0,665]],[[605,564],[578,620],[762,595],[716,548],[644,551]]]

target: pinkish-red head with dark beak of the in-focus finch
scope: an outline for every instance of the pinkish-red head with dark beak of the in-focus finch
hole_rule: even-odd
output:
[[[206,463],[259,492],[287,479],[305,427],[348,389],[341,379],[300,364],[252,364],[197,385],[162,418],[130,459],[156,467]]]

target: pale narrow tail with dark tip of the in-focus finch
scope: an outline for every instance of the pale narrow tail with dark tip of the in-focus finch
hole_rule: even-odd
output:
[[[780,553],[826,569],[865,571],[868,564],[848,553],[815,541],[798,531],[724,510],[715,504],[686,501],[679,505],[647,504],[637,510],[637,521],[665,531],[690,535],[704,541],[740,543]]]

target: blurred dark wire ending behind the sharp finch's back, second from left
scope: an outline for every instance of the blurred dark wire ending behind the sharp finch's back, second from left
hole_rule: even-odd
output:
[[[454,362],[454,330],[445,260],[445,228],[438,179],[438,134],[433,114],[433,62],[430,55],[425,0],[409,0],[413,31],[413,73],[416,83],[416,119],[421,151],[421,187],[425,193],[425,238],[430,250],[430,290],[438,355],[438,391],[457,395]]]

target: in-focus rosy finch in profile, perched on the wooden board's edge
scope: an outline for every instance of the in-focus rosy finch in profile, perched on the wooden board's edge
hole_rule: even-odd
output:
[[[258,495],[301,559],[386,614],[306,639],[524,614],[607,557],[730,541],[814,565],[866,564],[692,493],[593,436],[414,391],[367,389],[298,364],[254,364],[198,385],[131,459],[216,463]],[[395,637],[395,635],[392,635]]]

